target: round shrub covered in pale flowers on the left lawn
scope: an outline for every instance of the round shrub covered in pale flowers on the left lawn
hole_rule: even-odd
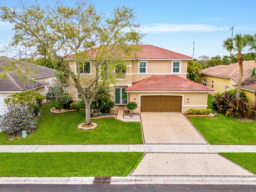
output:
[[[29,106],[10,105],[8,112],[3,114],[1,118],[0,128],[8,135],[20,134],[23,130],[31,133],[36,128],[34,124],[36,124],[37,118],[33,108]]]

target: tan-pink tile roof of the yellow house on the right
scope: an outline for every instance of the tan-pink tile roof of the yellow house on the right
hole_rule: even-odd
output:
[[[242,88],[255,90],[256,78],[250,77],[250,70],[256,67],[255,61],[243,61]],[[239,79],[239,65],[233,63],[230,65],[217,65],[202,70],[202,75],[220,76],[232,79],[236,85]]]

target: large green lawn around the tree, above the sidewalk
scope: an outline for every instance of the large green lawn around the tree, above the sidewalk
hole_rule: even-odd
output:
[[[8,137],[0,133],[0,145],[34,144],[143,144],[139,122],[121,122],[115,118],[92,120],[98,128],[78,130],[76,126],[85,122],[85,112],[51,114],[50,104],[41,108],[38,129],[27,138]]]

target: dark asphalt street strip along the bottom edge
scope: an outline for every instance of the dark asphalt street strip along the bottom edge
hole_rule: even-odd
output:
[[[60,185],[1,184],[1,192],[255,192],[256,185]]]

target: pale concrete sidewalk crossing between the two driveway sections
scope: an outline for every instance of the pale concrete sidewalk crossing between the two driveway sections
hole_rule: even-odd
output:
[[[256,152],[255,145],[144,144],[144,145],[0,145],[0,152],[146,152],[220,153]]]

